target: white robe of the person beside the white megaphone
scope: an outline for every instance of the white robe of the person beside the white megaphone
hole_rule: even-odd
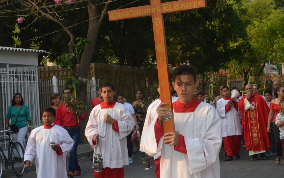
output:
[[[219,99],[216,104],[216,110],[221,117],[222,137],[232,135],[242,135],[241,123],[237,110],[234,106],[228,112],[225,112],[225,106],[229,100],[224,97]]]

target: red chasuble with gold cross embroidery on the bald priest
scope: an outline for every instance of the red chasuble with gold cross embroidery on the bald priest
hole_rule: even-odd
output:
[[[262,151],[270,150],[270,142],[266,131],[268,122],[269,107],[259,94],[254,93],[249,102],[254,109],[245,112],[246,96],[238,102],[238,107],[242,115],[243,133],[245,137],[246,150]]]

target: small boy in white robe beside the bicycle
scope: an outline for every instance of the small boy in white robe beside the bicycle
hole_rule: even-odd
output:
[[[37,177],[67,178],[66,155],[72,149],[74,141],[68,132],[55,125],[56,111],[46,107],[42,111],[43,126],[35,128],[28,139],[24,164],[30,169],[35,158]],[[55,142],[55,146],[50,146]]]

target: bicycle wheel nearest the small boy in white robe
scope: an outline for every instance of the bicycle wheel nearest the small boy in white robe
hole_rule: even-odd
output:
[[[17,177],[21,177],[25,171],[24,161],[24,148],[19,142],[14,142],[10,152],[10,161],[12,166],[12,171]]]

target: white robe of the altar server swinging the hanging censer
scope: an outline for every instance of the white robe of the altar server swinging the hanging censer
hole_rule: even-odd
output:
[[[119,132],[112,130],[112,124],[104,122],[106,114],[118,121]],[[126,136],[132,132],[134,125],[133,117],[123,104],[116,102],[113,108],[108,109],[101,109],[99,104],[93,108],[85,129],[85,136],[91,147],[95,149],[92,142],[93,135],[104,136],[106,133],[105,138],[99,137],[97,146],[97,154],[102,155],[103,158],[103,168],[122,168],[123,165],[128,165]]]

